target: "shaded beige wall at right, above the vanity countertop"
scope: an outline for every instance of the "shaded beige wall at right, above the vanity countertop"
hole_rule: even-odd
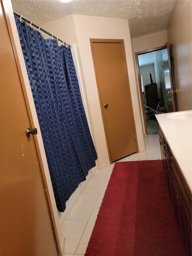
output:
[[[173,49],[173,68],[177,89],[178,111],[191,110],[191,19],[192,1],[176,1],[174,12],[167,29],[169,44]]]

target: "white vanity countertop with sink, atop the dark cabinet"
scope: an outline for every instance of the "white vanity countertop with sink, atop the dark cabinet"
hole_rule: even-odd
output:
[[[192,118],[171,119],[176,114],[191,116],[192,110],[155,115],[167,143],[182,170],[189,188],[192,187]]]

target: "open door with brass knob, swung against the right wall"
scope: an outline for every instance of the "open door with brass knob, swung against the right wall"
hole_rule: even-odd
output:
[[[169,43],[167,42],[162,50],[163,66],[164,66],[164,76],[165,76],[165,88],[167,96],[168,112],[175,112],[175,100],[171,75],[171,62],[170,62],[170,52]]]

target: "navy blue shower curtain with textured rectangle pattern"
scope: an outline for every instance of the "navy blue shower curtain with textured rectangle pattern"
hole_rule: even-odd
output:
[[[88,128],[70,47],[15,17],[44,142],[57,208],[95,166],[97,153]]]

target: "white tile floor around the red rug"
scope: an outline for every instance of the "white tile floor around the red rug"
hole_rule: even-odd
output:
[[[146,150],[120,161],[161,159],[159,134],[146,135]],[[61,224],[65,236],[64,256],[83,256],[93,230],[114,164],[95,170],[67,217]]]

